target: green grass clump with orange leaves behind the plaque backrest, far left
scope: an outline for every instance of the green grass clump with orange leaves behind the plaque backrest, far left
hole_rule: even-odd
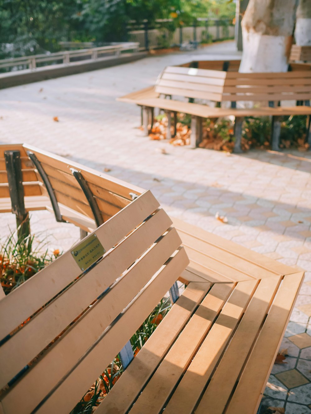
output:
[[[48,254],[46,243],[34,235],[18,238],[18,229],[0,243],[0,282],[5,294],[51,263],[58,255]]]

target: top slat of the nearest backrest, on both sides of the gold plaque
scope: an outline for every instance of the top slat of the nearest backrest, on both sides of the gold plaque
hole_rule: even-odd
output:
[[[113,219],[106,221],[96,229],[96,236],[108,252],[158,207],[159,203],[152,193],[146,191],[135,202],[130,203],[116,214]],[[36,312],[80,275],[81,271],[78,266],[72,266],[72,272],[63,274],[63,266],[70,255],[69,251],[57,258],[53,262],[53,270],[51,267],[46,267],[46,277],[42,278],[41,272],[35,274],[0,301],[0,317],[7,312],[11,315],[0,324],[0,338],[12,332],[29,315]],[[62,278],[56,278],[55,275],[58,274],[63,274]]]

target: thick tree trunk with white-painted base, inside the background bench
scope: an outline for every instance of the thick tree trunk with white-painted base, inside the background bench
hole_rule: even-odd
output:
[[[287,72],[296,7],[297,0],[249,1],[239,72]]]

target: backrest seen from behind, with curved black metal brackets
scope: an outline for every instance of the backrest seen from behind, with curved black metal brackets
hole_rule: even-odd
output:
[[[4,154],[10,147],[0,146],[0,154]],[[14,149],[21,152],[22,168],[28,166],[29,169],[22,170],[23,180],[33,180],[31,183],[23,183],[25,198],[27,195],[41,195],[47,201],[45,208],[53,211],[50,189],[58,205],[54,208],[59,209],[60,220],[79,224],[86,231],[98,227],[128,205],[132,201],[131,193],[140,195],[143,191],[135,185],[27,144]],[[37,165],[34,165],[34,162]],[[2,179],[5,181],[3,196],[9,197],[6,171],[2,171]],[[36,193],[34,190],[30,193],[29,188],[36,189]],[[11,211],[10,205],[7,211]],[[97,214],[97,221],[94,214]]]

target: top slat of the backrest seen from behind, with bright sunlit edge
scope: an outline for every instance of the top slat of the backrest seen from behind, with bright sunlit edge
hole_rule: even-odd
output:
[[[135,185],[129,185],[124,181],[118,180],[117,178],[113,178],[104,173],[99,173],[98,171],[93,170],[92,168],[82,166],[81,164],[75,163],[74,161],[68,162],[68,159],[60,157],[58,155],[51,154],[50,152],[41,151],[29,145],[24,145],[24,148],[34,152],[34,154],[36,154],[40,162],[48,164],[53,168],[57,168],[66,173],[70,173],[70,168],[75,168],[78,171],[81,171],[82,176],[89,183],[96,184],[96,180],[100,178],[103,183],[102,185],[106,188],[106,190],[121,195],[127,198],[128,200],[131,200],[129,195],[130,192],[140,195],[144,191],[142,188],[139,188]],[[64,165],[66,165],[67,167],[65,167]]]

